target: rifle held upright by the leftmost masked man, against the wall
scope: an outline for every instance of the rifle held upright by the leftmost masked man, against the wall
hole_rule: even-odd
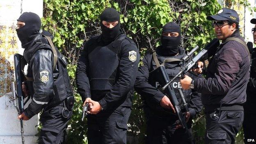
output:
[[[15,69],[15,81],[16,81],[17,91],[15,90],[15,83],[11,82],[11,90],[12,90],[14,107],[18,111],[18,115],[24,112],[24,105],[30,99],[30,96],[28,96],[25,103],[23,102],[24,96],[22,93],[22,82],[23,82],[24,75],[22,73],[21,59],[22,59],[22,55],[18,53],[14,54],[14,69]],[[16,98],[18,98],[18,106],[16,105]],[[21,122],[21,140],[22,140],[22,144],[24,144],[25,140],[24,140],[23,120],[20,119],[20,122]]]

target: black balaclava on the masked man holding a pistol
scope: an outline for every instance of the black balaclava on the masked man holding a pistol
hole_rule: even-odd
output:
[[[118,21],[115,27],[108,28],[103,25],[102,21],[114,22]],[[101,13],[101,30],[103,40],[105,42],[114,41],[114,39],[120,34],[120,16],[116,9],[109,7]]]

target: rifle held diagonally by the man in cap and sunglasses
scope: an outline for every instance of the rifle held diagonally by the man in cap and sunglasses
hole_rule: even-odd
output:
[[[206,45],[206,48],[204,48],[196,56],[194,56],[193,59],[189,63],[187,63],[186,66],[181,67],[181,71],[176,76],[174,76],[174,78],[168,81],[167,84],[164,87],[162,87],[162,90],[165,90],[167,86],[170,85],[176,78],[180,76],[181,78],[183,78],[185,73],[190,71],[190,69],[192,69],[200,59],[205,59],[205,57],[213,56],[218,46],[219,46],[219,40],[216,38],[213,39],[210,43],[208,43],[208,45]],[[210,52],[214,51],[214,53],[208,53],[209,51]]]

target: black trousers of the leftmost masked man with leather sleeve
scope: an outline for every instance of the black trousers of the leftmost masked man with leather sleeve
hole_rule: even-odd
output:
[[[39,144],[66,144],[66,128],[71,116],[72,109],[68,110],[68,117],[62,115],[65,100],[56,106],[46,106],[40,116],[42,129],[39,136]]]

